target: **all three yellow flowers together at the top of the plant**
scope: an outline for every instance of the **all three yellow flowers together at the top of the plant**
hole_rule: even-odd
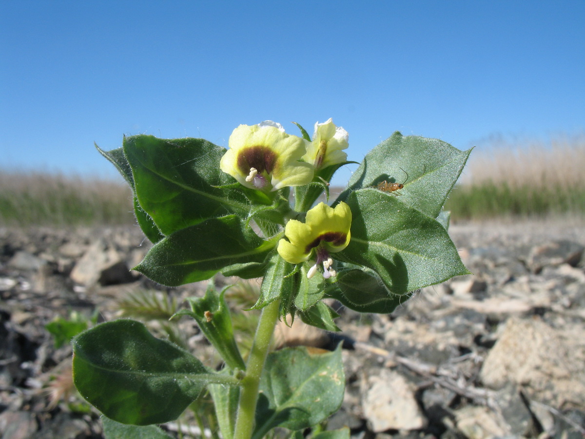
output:
[[[345,129],[332,119],[315,124],[312,141],[284,132],[282,125],[264,121],[257,125],[240,125],[229,138],[229,149],[219,164],[243,186],[275,191],[287,186],[304,186],[314,180],[319,170],[345,163],[349,146]],[[298,264],[311,259],[312,277],[321,270],[325,279],[335,276],[329,253],[342,251],[350,239],[352,212],[345,203],[335,208],[319,203],[307,212],[305,222],[291,219],[278,242],[278,254],[287,262]]]

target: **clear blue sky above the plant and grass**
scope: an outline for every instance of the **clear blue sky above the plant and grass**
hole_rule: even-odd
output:
[[[297,134],[332,117],[358,162],[397,130],[459,149],[580,133],[583,23],[583,0],[5,0],[0,168],[111,177],[94,142],[227,147],[266,119]]]

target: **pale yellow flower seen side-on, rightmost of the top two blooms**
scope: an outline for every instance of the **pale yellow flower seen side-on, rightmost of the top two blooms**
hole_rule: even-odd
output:
[[[315,124],[313,141],[307,147],[307,153],[302,159],[312,163],[315,169],[321,169],[332,164],[343,163],[347,160],[347,154],[342,151],[349,146],[347,143],[349,134],[345,129],[333,124],[333,119]]]

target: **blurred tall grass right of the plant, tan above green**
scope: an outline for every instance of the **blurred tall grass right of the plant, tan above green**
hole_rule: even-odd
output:
[[[452,218],[585,217],[585,135],[488,146],[447,201]]]

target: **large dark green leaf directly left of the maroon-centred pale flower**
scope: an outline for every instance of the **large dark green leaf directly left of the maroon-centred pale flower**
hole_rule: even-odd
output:
[[[219,169],[224,148],[204,139],[147,135],[124,138],[123,148],[139,204],[164,235],[207,218],[249,213],[245,188]]]

